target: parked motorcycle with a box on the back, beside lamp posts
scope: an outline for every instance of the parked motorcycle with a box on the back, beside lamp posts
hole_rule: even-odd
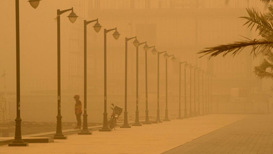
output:
[[[107,119],[107,124],[110,129],[114,128],[114,130],[116,130],[115,126],[117,126],[117,119],[119,119],[119,116],[121,115],[123,108],[114,105],[113,103],[111,105],[114,108],[110,107],[113,110],[113,112],[111,114],[111,117]]]

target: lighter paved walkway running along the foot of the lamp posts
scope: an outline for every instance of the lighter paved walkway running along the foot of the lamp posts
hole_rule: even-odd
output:
[[[213,132],[248,115],[206,115],[163,123],[117,128],[93,135],[69,135],[67,140],[31,143],[29,147],[0,146],[0,153],[160,154]]]

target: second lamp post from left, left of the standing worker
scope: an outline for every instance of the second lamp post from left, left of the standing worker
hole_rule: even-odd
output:
[[[61,26],[60,26],[60,15],[71,11],[67,16],[71,23],[74,23],[77,19],[77,15],[73,12],[73,7],[71,9],[66,9],[60,11],[57,9],[57,85],[58,85],[58,115],[57,115],[57,128],[56,133],[54,134],[54,139],[67,139],[67,136],[64,136],[62,133],[62,115],[61,115]]]

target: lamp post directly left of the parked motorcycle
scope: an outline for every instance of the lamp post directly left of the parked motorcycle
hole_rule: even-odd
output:
[[[107,123],[107,58],[106,58],[106,34],[110,31],[114,31],[115,32],[112,34],[114,39],[119,39],[119,35],[120,33],[117,31],[117,27],[116,28],[112,28],[112,29],[104,29],[104,113],[103,113],[103,124],[102,124],[102,128],[99,130],[99,132],[111,132],[112,130],[109,129],[108,127],[108,123]]]

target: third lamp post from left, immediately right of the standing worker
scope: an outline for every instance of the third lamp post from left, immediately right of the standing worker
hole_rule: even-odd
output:
[[[99,20],[91,20],[91,21],[83,21],[83,48],[84,48],[84,113],[83,113],[83,129],[81,132],[78,133],[78,135],[91,135],[92,132],[88,131],[88,126],[87,126],[87,24],[90,24],[91,22],[95,22],[96,24],[93,26],[94,30],[98,33],[102,26],[99,24]]]

